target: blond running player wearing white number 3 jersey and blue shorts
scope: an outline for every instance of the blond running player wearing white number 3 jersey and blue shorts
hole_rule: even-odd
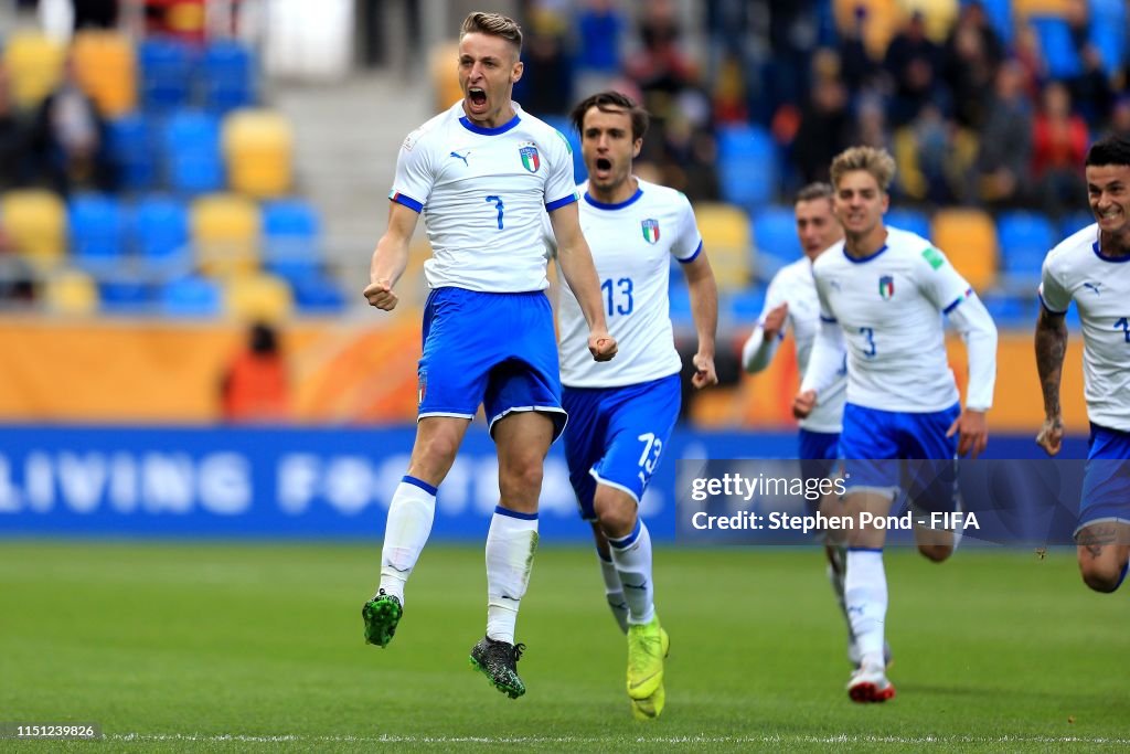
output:
[[[920,511],[956,510],[954,459],[984,450],[997,372],[997,328],[968,283],[925,239],[884,225],[894,172],[890,155],[871,147],[852,147],[832,162],[844,240],[812,266],[822,324],[793,401],[798,418],[809,416],[835,384],[846,350],[844,502],[851,513],[876,517],[889,512],[901,486],[894,465],[883,462],[896,459],[939,461],[910,480],[910,494]],[[965,410],[946,359],[942,314],[968,349]],[[847,532],[844,598],[861,655],[847,692],[857,702],[895,695],[884,660],[885,534],[873,526]],[[932,561],[953,552],[953,531],[919,528],[915,536]]]

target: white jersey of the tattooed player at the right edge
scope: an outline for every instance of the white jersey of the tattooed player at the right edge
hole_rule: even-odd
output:
[[[1086,227],[1044,259],[1040,298],[1057,313],[1075,301],[1083,323],[1087,416],[1130,432],[1130,257],[1104,257],[1098,226]]]

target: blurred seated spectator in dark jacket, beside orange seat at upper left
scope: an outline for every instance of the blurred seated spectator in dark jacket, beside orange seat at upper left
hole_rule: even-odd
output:
[[[40,105],[31,136],[32,149],[54,190],[63,194],[113,190],[105,135],[105,121],[79,87],[75,60],[68,55],[62,81]]]

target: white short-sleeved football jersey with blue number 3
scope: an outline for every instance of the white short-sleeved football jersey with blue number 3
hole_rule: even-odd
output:
[[[852,259],[841,241],[812,274],[820,317],[838,322],[847,345],[849,402],[920,414],[957,402],[941,315],[973,291],[929,241],[887,226],[876,253]]]

